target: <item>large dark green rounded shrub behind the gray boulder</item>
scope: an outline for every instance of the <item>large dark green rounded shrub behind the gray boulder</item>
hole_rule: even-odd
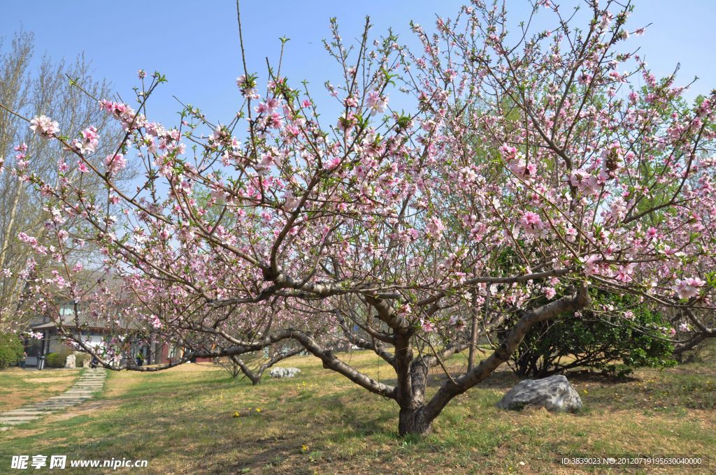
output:
[[[593,295],[593,308],[618,308],[618,314],[586,310],[531,328],[513,354],[513,371],[543,378],[569,368],[594,368],[624,376],[639,366],[673,366],[673,346],[664,338],[670,327],[662,313],[629,297]],[[634,300],[634,301],[632,301]],[[627,310],[628,309],[628,310]],[[624,318],[624,312],[632,315]]]

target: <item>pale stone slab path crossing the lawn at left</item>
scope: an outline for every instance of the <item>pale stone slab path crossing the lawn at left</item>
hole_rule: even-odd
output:
[[[52,396],[47,401],[0,413],[0,431],[6,431],[10,429],[9,426],[31,422],[54,411],[61,411],[87,401],[102,391],[105,386],[105,378],[107,378],[107,373],[103,368],[85,369],[74,386],[61,395]]]

